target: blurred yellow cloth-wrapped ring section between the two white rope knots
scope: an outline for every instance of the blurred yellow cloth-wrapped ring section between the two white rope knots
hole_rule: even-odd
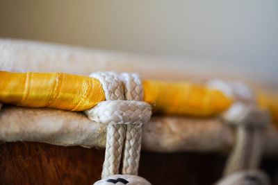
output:
[[[162,114],[211,116],[232,103],[222,92],[190,82],[145,80],[143,84],[145,102]]]

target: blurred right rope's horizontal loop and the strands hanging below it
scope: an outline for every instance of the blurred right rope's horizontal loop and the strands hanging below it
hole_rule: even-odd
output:
[[[224,120],[236,126],[236,143],[224,169],[224,175],[259,167],[263,154],[263,129],[269,123],[267,112],[243,103],[234,104]]]

